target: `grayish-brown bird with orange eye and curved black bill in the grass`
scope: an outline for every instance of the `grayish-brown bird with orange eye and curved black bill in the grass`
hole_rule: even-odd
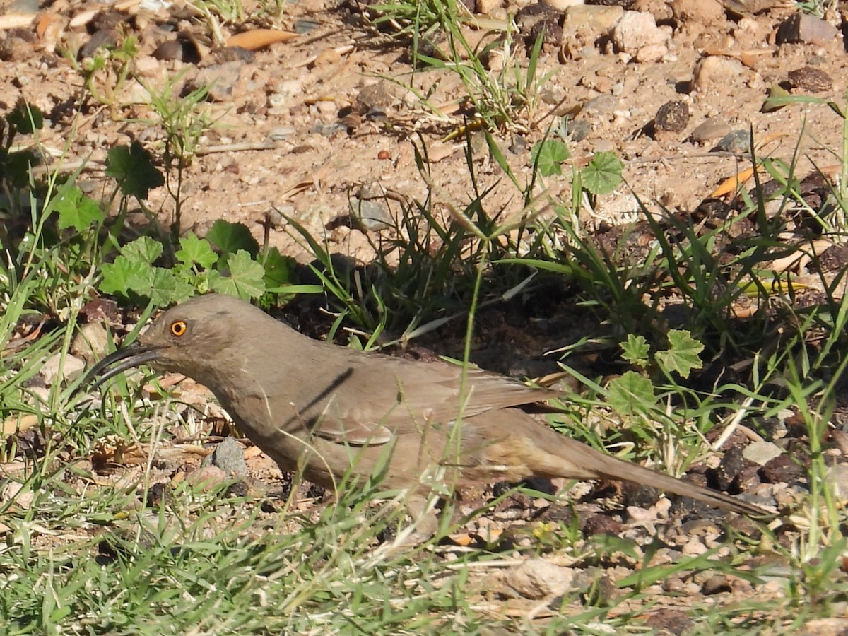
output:
[[[432,535],[433,492],[530,477],[640,483],[750,517],[766,510],[591,448],[533,410],[559,397],[449,362],[404,360],[309,338],[241,299],[210,293],[177,304],[103,358],[83,385],[138,365],[191,377],[282,471],[335,488],[382,473],[405,491],[417,536]]]

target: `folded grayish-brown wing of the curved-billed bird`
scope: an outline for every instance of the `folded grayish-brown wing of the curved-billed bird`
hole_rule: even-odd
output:
[[[339,444],[385,444],[397,434],[558,395],[478,369],[468,370],[463,384],[462,368],[447,363],[382,355],[377,360],[377,365],[360,365],[349,382],[338,385],[315,422],[315,434]],[[362,387],[371,390],[363,393]]]

